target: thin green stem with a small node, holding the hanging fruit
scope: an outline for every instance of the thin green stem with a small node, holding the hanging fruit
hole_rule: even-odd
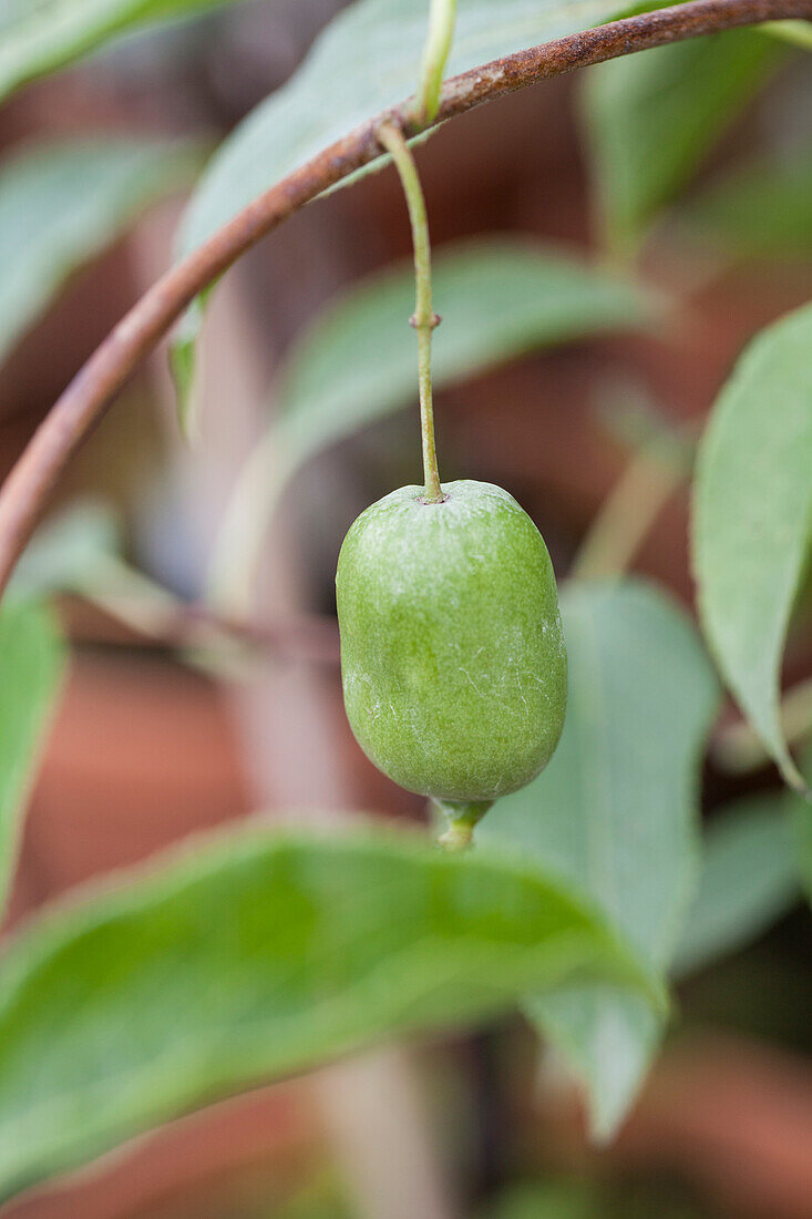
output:
[[[391,155],[406,196],[408,219],[415,245],[416,304],[411,324],[417,330],[417,384],[421,396],[421,434],[423,438],[424,502],[443,503],[440,472],[436,464],[434,440],[434,403],[432,397],[432,332],[440,318],[432,305],[432,247],[423,188],[415,158],[404,133],[394,123],[382,123],[378,128],[380,146]]]

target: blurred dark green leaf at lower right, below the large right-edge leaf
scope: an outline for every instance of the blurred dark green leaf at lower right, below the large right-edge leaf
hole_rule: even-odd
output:
[[[753,940],[797,901],[786,803],[786,794],[751,796],[711,822],[699,894],[674,961],[678,974]]]

